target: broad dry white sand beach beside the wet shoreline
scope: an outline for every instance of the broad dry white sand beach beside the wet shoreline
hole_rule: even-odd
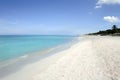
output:
[[[120,37],[86,36],[0,80],[120,80]]]

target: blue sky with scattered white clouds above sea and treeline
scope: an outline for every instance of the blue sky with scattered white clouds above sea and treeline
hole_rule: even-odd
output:
[[[76,35],[120,26],[120,0],[0,0],[0,35]]]

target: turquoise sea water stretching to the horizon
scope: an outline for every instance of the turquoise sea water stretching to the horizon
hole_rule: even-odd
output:
[[[0,36],[0,61],[13,59],[67,43],[73,36]]]

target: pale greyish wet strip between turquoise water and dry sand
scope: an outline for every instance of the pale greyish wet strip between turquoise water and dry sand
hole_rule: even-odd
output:
[[[32,52],[30,54],[26,54],[15,59],[4,61],[3,63],[1,63],[2,66],[0,66],[0,79],[5,78],[16,72],[19,72],[19,70],[23,69],[26,65],[42,61],[47,57],[50,57],[52,55],[57,54],[58,52],[68,49],[70,46],[77,43],[77,38],[78,37],[74,37],[74,39],[67,43],[60,44],[49,49]]]

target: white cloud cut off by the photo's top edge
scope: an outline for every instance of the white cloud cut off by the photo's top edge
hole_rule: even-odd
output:
[[[101,8],[105,4],[120,4],[120,0],[98,0],[95,8]]]

